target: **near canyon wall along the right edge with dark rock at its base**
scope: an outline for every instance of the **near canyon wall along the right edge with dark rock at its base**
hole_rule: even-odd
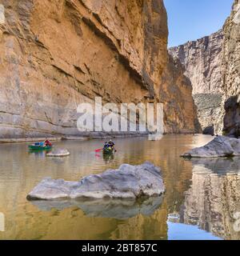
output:
[[[240,136],[240,1],[235,0],[230,18],[224,25],[222,60],[222,117],[223,131]],[[225,106],[225,110],[223,108]],[[221,120],[222,121],[222,120]]]

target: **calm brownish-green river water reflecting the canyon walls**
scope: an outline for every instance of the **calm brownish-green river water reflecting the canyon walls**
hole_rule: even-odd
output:
[[[62,141],[67,158],[30,154],[26,143],[0,145],[0,239],[239,239],[240,158],[186,161],[180,154],[212,137],[166,135],[115,139],[118,152],[103,158],[103,141]],[[150,161],[162,168],[166,194],[144,202],[28,202],[45,177],[75,181],[122,163]]]

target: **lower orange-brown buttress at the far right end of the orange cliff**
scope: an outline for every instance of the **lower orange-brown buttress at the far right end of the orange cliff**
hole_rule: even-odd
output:
[[[164,102],[165,129],[170,133],[188,133],[190,130],[201,132],[191,92],[192,85],[184,75],[182,64],[169,56],[162,75],[160,102]]]

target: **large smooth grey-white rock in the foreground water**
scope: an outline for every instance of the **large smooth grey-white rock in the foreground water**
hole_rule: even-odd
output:
[[[160,168],[145,162],[141,166],[124,164],[117,170],[90,175],[79,182],[45,178],[34,187],[27,198],[139,198],[161,195],[164,191]]]

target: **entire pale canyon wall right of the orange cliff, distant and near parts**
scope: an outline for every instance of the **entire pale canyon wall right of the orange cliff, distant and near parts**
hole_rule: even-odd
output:
[[[240,137],[240,1],[222,30],[169,52],[192,82],[203,133]]]

